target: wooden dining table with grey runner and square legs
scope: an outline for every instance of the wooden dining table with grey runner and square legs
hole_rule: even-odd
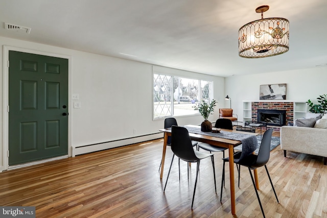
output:
[[[200,126],[195,126],[195,125],[186,125],[185,127],[200,128]],[[168,136],[171,136],[172,132],[171,132],[171,128],[161,129],[159,131],[164,132],[164,147],[162,149],[161,171],[160,171],[160,179],[162,179],[162,176],[164,175],[167,140],[168,140]],[[259,135],[258,133],[242,132],[242,131],[236,131],[236,130],[221,129],[220,131],[234,132],[234,133],[238,133],[238,134]],[[235,207],[235,179],[234,179],[233,148],[236,146],[239,146],[242,142],[238,141],[238,140],[233,140],[233,139],[220,138],[218,135],[217,136],[208,136],[208,135],[204,135],[204,134],[195,134],[195,133],[189,133],[189,134],[190,134],[191,140],[212,144],[213,146],[220,146],[220,147],[228,148],[229,178],[230,178],[230,205],[231,205],[231,214],[235,215],[236,207]],[[254,180],[255,180],[256,188],[259,189],[258,173],[257,173],[256,169],[254,169]]]

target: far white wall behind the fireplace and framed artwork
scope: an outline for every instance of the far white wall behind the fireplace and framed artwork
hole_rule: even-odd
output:
[[[260,85],[277,83],[287,84],[286,100],[310,99],[317,103],[319,95],[327,94],[327,67],[228,77],[225,78],[225,93],[232,98],[231,107],[243,120],[242,101],[258,101]]]

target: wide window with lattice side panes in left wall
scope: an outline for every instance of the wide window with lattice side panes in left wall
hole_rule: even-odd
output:
[[[153,74],[153,117],[198,114],[196,102],[212,100],[212,81]]]

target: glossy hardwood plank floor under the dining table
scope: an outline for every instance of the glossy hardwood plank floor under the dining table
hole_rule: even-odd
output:
[[[277,132],[273,133],[278,135]],[[229,187],[220,203],[222,153],[215,154],[217,193],[210,159],[200,165],[193,210],[196,164],[177,158],[166,182],[172,152],[167,149],[159,179],[162,139],[80,155],[0,173],[1,206],[35,206],[36,217],[262,217],[248,169],[241,168],[236,213],[230,213]],[[266,217],[327,217],[327,166],[322,157],[288,152],[278,146],[267,164],[280,204],[264,167],[258,169]],[[235,172],[236,168],[235,168]],[[229,181],[228,168],[226,181]]]

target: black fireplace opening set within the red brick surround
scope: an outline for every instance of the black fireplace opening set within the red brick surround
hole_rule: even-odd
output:
[[[286,110],[258,109],[257,121],[265,122],[270,126],[286,125]]]

